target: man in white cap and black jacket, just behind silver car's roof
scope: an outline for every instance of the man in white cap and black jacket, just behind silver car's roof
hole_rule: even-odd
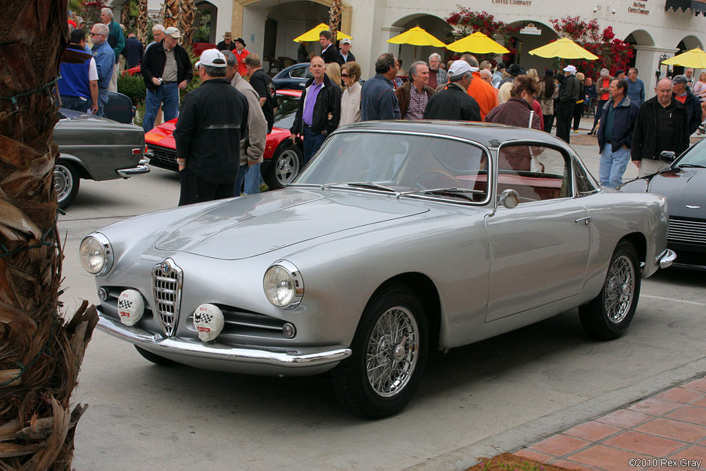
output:
[[[481,121],[481,109],[467,90],[473,81],[473,68],[466,61],[454,61],[448,68],[449,83],[431,95],[424,109],[424,119]]]

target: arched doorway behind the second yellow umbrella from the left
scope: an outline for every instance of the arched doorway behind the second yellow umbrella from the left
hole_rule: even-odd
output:
[[[436,39],[440,40],[441,42],[447,42],[446,37],[450,36],[453,32],[453,28],[451,27],[451,25],[446,23],[438,16],[426,15],[421,13],[416,15],[405,16],[404,18],[400,18],[399,20],[395,21],[395,23],[393,23],[393,27],[402,28],[402,32],[414,28],[415,26],[419,26],[419,28],[424,29],[426,32],[428,32],[433,37],[436,37]],[[394,47],[394,49],[390,50],[395,52],[395,56],[397,56],[398,59],[402,60],[402,70],[400,71],[400,74],[402,75],[407,75],[406,72],[403,72],[407,70],[407,68],[409,68],[412,62],[414,62],[415,60],[428,62],[429,56],[434,52],[436,52],[436,54],[441,55],[441,59],[443,62],[448,61],[451,55],[455,54],[454,52],[450,52],[448,49],[444,49],[442,47],[417,46],[415,48],[411,44],[399,44],[399,46],[397,44],[390,45]]]

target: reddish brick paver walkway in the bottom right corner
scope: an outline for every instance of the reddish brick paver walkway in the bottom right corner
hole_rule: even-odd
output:
[[[571,470],[706,470],[706,378],[532,443],[515,455]]]

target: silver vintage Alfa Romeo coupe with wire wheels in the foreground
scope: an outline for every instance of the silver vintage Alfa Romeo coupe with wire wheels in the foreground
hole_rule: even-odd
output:
[[[578,306],[617,338],[640,280],[669,266],[666,200],[602,189],[529,129],[366,122],[333,133],[286,189],[89,234],[102,330],[157,364],[331,370],[363,417],[402,410],[431,349]]]

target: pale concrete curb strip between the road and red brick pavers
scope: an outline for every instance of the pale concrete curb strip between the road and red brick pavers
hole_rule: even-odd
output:
[[[643,379],[624,388],[604,393],[544,417],[525,422],[486,439],[405,468],[409,471],[464,471],[479,463],[477,458],[491,458],[511,453],[523,446],[545,439],[588,420],[602,417],[649,396],[674,388],[706,373],[706,357],[675,369]]]

